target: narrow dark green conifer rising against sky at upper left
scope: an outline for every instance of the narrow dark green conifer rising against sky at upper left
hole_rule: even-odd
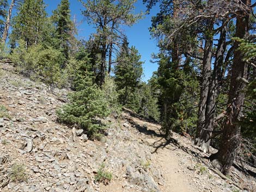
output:
[[[66,60],[69,59],[72,28],[74,23],[70,19],[70,3],[69,0],[62,0],[58,5],[58,8],[53,11],[53,22],[56,24],[56,32],[58,39],[58,47],[60,51],[65,55]]]

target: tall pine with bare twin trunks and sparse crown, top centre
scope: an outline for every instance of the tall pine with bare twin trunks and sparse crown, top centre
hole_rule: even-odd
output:
[[[133,14],[135,0],[88,0],[86,3],[79,0],[85,10],[82,14],[89,23],[93,23],[97,33],[94,34],[95,40],[99,42],[101,51],[101,63],[99,67],[101,86],[105,80],[106,60],[109,54],[108,73],[111,71],[112,50],[114,45],[118,45],[123,38],[121,26],[132,26],[136,23],[141,14]]]

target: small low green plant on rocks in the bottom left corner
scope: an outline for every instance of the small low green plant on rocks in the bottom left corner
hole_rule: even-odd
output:
[[[26,182],[28,176],[23,164],[14,164],[10,172],[11,180],[14,182]]]

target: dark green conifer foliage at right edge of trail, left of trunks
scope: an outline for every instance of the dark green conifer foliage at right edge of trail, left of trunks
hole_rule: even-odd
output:
[[[194,134],[199,85],[193,63],[187,64],[183,70],[175,70],[170,57],[159,54],[159,59],[156,79],[160,90],[162,129],[166,135],[169,135],[170,131]]]

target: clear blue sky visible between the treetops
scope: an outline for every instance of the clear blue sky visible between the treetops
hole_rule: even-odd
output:
[[[47,13],[52,14],[52,10],[57,8],[60,0],[44,0],[47,6]],[[85,0],[86,1],[86,0]],[[86,21],[83,21],[81,10],[83,6],[78,0],[69,0],[72,18],[75,16],[80,26],[78,26],[78,36],[81,39],[88,40],[89,35],[94,32],[93,26],[89,26]],[[138,0],[136,3],[136,13],[141,11],[145,12],[146,5],[142,3],[142,0]],[[156,40],[151,39],[149,33],[149,27],[151,26],[151,17],[156,15],[157,10],[153,9],[150,15],[146,15],[145,18],[139,21],[137,24],[130,28],[125,29],[125,34],[128,37],[130,46],[135,46],[139,53],[142,55],[142,61],[145,61],[143,65],[144,77],[143,80],[147,81],[154,71],[157,70],[157,64],[150,63],[151,53],[157,52]]]

